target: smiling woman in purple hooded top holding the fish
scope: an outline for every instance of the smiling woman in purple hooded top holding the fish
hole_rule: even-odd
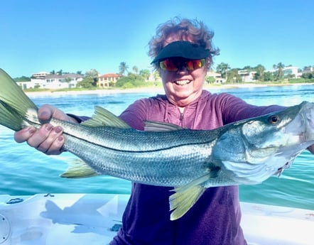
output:
[[[140,99],[120,118],[143,130],[144,120],[166,121],[189,129],[215,129],[224,124],[260,116],[282,107],[256,107],[231,94],[211,94],[202,89],[207,69],[218,50],[213,33],[202,22],[175,18],[158,27],[149,55],[160,72],[165,95]],[[64,114],[50,105],[38,110],[42,120],[51,116],[80,123],[85,118]],[[17,142],[46,154],[61,153],[64,143],[60,126],[43,125],[16,132]],[[312,148],[313,151],[313,148]],[[170,221],[169,190],[133,183],[123,216],[123,227],[111,244],[227,244],[244,245],[240,227],[238,187],[208,188],[180,219]]]

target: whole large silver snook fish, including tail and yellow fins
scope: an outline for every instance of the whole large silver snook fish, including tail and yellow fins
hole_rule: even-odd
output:
[[[3,70],[0,85],[0,124],[14,131],[39,127],[36,105]],[[174,186],[170,219],[178,219],[207,187],[261,183],[288,168],[314,143],[314,104],[303,102],[214,130],[148,121],[146,131],[137,131],[101,107],[82,124],[58,119],[50,124],[63,127],[65,150],[89,166],[70,168],[64,177],[97,173]]]

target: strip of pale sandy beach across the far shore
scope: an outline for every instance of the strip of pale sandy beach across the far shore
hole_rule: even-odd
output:
[[[286,84],[239,84],[239,85],[204,85],[203,89],[239,89],[248,87],[283,87],[283,86],[302,86],[302,85],[314,85],[314,83],[286,83]],[[163,94],[163,87],[140,87],[132,89],[93,89],[93,90],[80,90],[80,91],[36,91],[36,92],[25,92],[28,96],[32,95],[43,95],[50,96],[52,94],[63,95],[63,94],[125,94],[125,93],[139,93],[139,92],[155,92],[156,94]]]

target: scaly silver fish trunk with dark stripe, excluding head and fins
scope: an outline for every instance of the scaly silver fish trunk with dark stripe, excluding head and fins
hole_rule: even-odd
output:
[[[215,143],[209,131],[146,132],[104,127],[88,131],[84,142],[67,135],[65,149],[99,174],[148,185],[179,186],[215,168],[208,161]],[[212,182],[217,186],[226,180],[215,178]]]

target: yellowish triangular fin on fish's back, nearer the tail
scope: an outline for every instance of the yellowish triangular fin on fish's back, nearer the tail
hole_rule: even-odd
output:
[[[95,107],[94,116],[87,121],[83,121],[81,125],[85,126],[112,126],[114,128],[129,129],[130,126],[119,119],[112,112],[102,107]]]

